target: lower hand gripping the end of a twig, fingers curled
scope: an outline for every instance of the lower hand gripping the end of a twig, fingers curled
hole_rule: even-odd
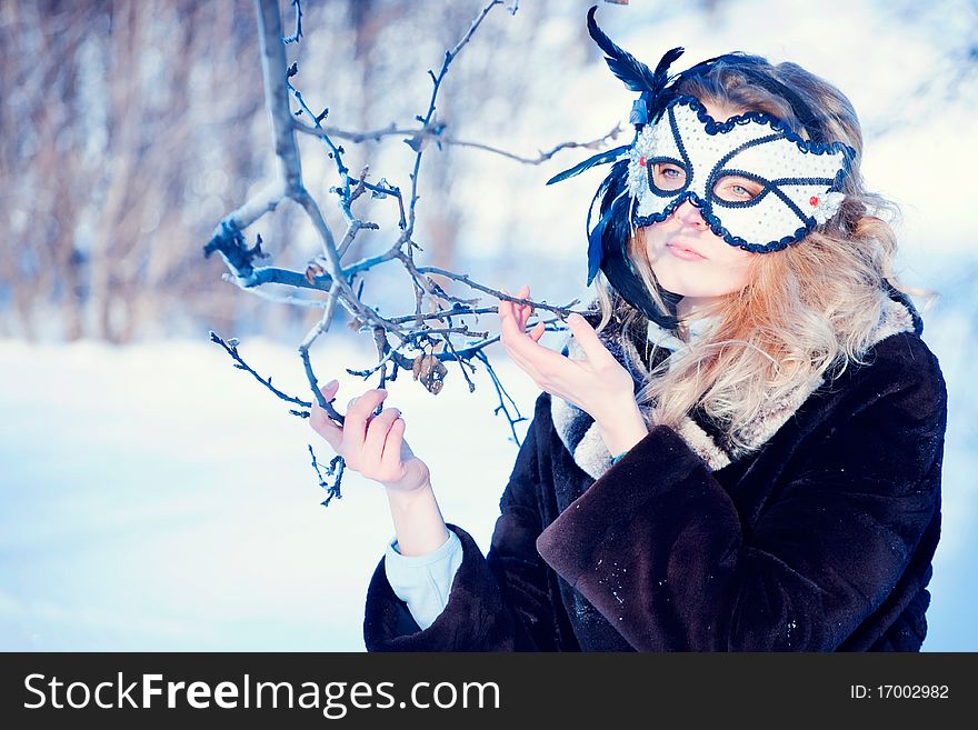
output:
[[[322,388],[327,401],[336,398],[339,382]],[[343,426],[336,423],[317,402],[312,403],[309,426],[346,461],[347,468],[380,482],[388,492],[415,493],[430,486],[428,466],[405,441],[405,420],[397,408],[373,410],[387,398],[383,389],[372,389],[350,400]]]

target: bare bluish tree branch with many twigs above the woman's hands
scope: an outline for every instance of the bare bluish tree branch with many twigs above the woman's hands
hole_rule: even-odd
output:
[[[415,263],[415,250],[422,250],[413,240],[413,234],[417,222],[417,202],[420,197],[418,192],[419,174],[427,141],[435,140],[439,144],[447,143],[480,149],[519,162],[538,164],[550,159],[560,150],[576,147],[598,147],[606,143],[609,138],[613,139],[620,132],[620,128],[616,127],[603,137],[590,142],[563,142],[549,151],[539,151],[537,158],[521,157],[480,142],[453,140],[443,136],[445,122],[436,114],[441,83],[451,62],[458,58],[486,16],[497,4],[503,4],[502,0],[490,0],[482,8],[461,39],[453,48],[446,51],[438,73],[428,71],[432,80],[432,89],[426,113],[416,117],[420,124],[418,129],[402,130],[391,126],[391,128],[386,130],[356,133],[325,127],[322,122],[329,113],[328,108],[323,108],[318,113],[313,112],[303,93],[292,83],[292,79],[298,76],[299,69],[297,63],[288,66],[285,44],[298,42],[302,36],[302,10],[299,1],[293,0],[296,8],[296,32],[289,38],[283,38],[278,0],[256,0],[261,47],[261,68],[265,79],[265,99],[269,119],[271,120],[276,158],[279,162],[279,179],[221,219],[203,250],[204,256],[210,256],[214,251],[220,253],[230,270],[229,274],[224,274],[224,279],[234,282],[241,289],[257,290],[267,283],[278,283],[296,289],[319,290],[326,293],[325,300],[315,301],[295,297],[276,298],[265,292],[262,292],[262,296],[273,301],[302,307],[319,307],[323,310],[316,324],[302,338],[298,347],[298,354],[302,361],[309,387],[317,402],[326,409],[332,420],[340,424],[343,422],[343,418],[330,403],[325,401],[310,358],[310,348],[319,337],[329,331],[336,318],[338,307],[342,307],[350,314],[353,327],[358,328],[361,332],[369,331],[372,334],[377,350],[377,363],[375,366],[365,370],[347,369],[347,372],[363,378],[378,373],[382,387],[388,379],[396,379],[399,370],[406,370],[411,372],[413,378],[426,389],[437,394],[440,392],[443,379],[448,374],[445,363],[452,361],[458,363],[469,390],[475,390],[475,382],[469,376],[476,372],[476,366],[472,360],[478,360],[490,372],[497,394],[499,396],[500,404],[496,412],[501,411],[506,416],[516,439],[515,424],[525,419],[518,412],[516,417],[510,413],[510,409],[503,400],[508,396],[483,352],[485,348],[498,341],[499,337],[490,337],[487,331],[471,329],[468,322],[459,320],[459,318],[468,316],[478,319],[479,314],[497,312],[498,307],[477,307],[480,301],[479,298],[463,299],[452,294],[436,282],[430,274],[457,281],[469,289],[490,294],[499,301],[507,300],[526,303],[537,312],[552,312],[557,317],[545,322],[545,329],[548,331],[561,331],[565,329],[559,327],[558,322],[571,312],[571,307],[579,303],[579,300],[575,299],[569,304],[559,307],[548,304],[546,301],[533,302],[531,300],[518,299],[475,281],[470,274],[456,273],[440,267],[418,267]],[[516,10],[517,4],[513,2],[510,12],[516,12]],[[298,106],[295,112],[290,106],[290,97]],[[306,121],[298,122],[296,117],[303,117]],[[297,132],[311,134],[320,139],[326,156],[332,160],[336,167],[339,183],[330,189],[330,193],[336,194],[337,204],[347,227],[343,236],[339,239],[339,243],[326,217],[322,214],[319,202],[303,184],[301,160],[296,139]],[[396,133],[406,134],[408,139],[405,141],[415,150],[412,170],[409,173],[411,184],[407,203],[400,188],[389,183],[387,179],[381,178],[377,182],[369,181],[369,170],[366,166],[359,176],[350,176],[349,168],[343,160],[345,150],[342,146],[335,141],[335,139],[347,139],[353,142],[361,142],[371,139],[378,140]],[[342,259],[350,250],[357,236],[365,230],[379,230],[377,223],[359,218],[353,211],[353,203],[368,191],[370,192],[370,198],[390,198],[397,201],[399,232],[387,251],[345,267]],[[266,213],[275,211],[286,199],[299,206],[306,218],[311,222],[319,239],[320,252],[307,264],[305,272],[292,271],[281,267],[256,266],[259,259],[268,258],[268,254],[261,250],[261,237],[258,237],[253,246],[249,246],[244,238],[243,231],[248,227]],[[386,262],[400,263],[410,278],[415,292],[415,312],[412,314],[386,318],[376,308],[369,307],[363,302],[361,298],[363,274]],[[360,277],[360,286],[358,291],[353,292],[352,284],[357,277]],[[426,309],[428,311],[425,311]],[[536,322],[530,326],[536,326]],[[457,346],[452,342],[453,336],[456,338],[466,338],[469,341],[466,344]],[[239,356],[237,341],[233,341],[234,344],[224,343],[213,332],[211,332],[211,339],[221,344],[231,354],[236,360],[236,368],[251,372],[257,380],[278,398],[305,408],[311,407],[311,403],[286,396],[273,388],[271,386],[271,378],[262,379],[258,376]],[[392,368],[390,373],[388,373],[388,366]],[[509,400],[512,403],[512,400]],[[292,410],[290,412],[303,418],[309,416],[308,411]],[[518,439],[516,440],[518,441]],[[310,453],[312,453],[311,447]],[[315,453],[312,453],[312,459],[320,484],[326,487],[326,482],[317,466],[318,462],[316,461]],[[323,501],[323,504],[328,504],[333,497],[339,498],[340,496],[341,459],[339,461],[333,460],[331,463],[328,473],[331,476],[333,472],[336,472],[337,479],[331,487],[328,487],[329,496]]]

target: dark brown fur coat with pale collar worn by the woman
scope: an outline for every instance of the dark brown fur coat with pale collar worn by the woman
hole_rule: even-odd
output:
[[[423,631],[381,560],[368,650],[918,651],[947,423],[921,333],[892,293],[871,363],[769,403],[744,454],[693,411],[612,466],[590,417],[541,393],[488,556],[449,526],[463,559]],[[655,364],[625,349],[635,376]]]

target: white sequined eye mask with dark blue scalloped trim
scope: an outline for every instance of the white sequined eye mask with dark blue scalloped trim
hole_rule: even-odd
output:
[[[838,212],[851,157],[851,148],[805,141],[770,114],[717,122],[697,99],[678,97],[630,151],[632,224],[666,220],[689,200],[729,244],[780,250]]]

